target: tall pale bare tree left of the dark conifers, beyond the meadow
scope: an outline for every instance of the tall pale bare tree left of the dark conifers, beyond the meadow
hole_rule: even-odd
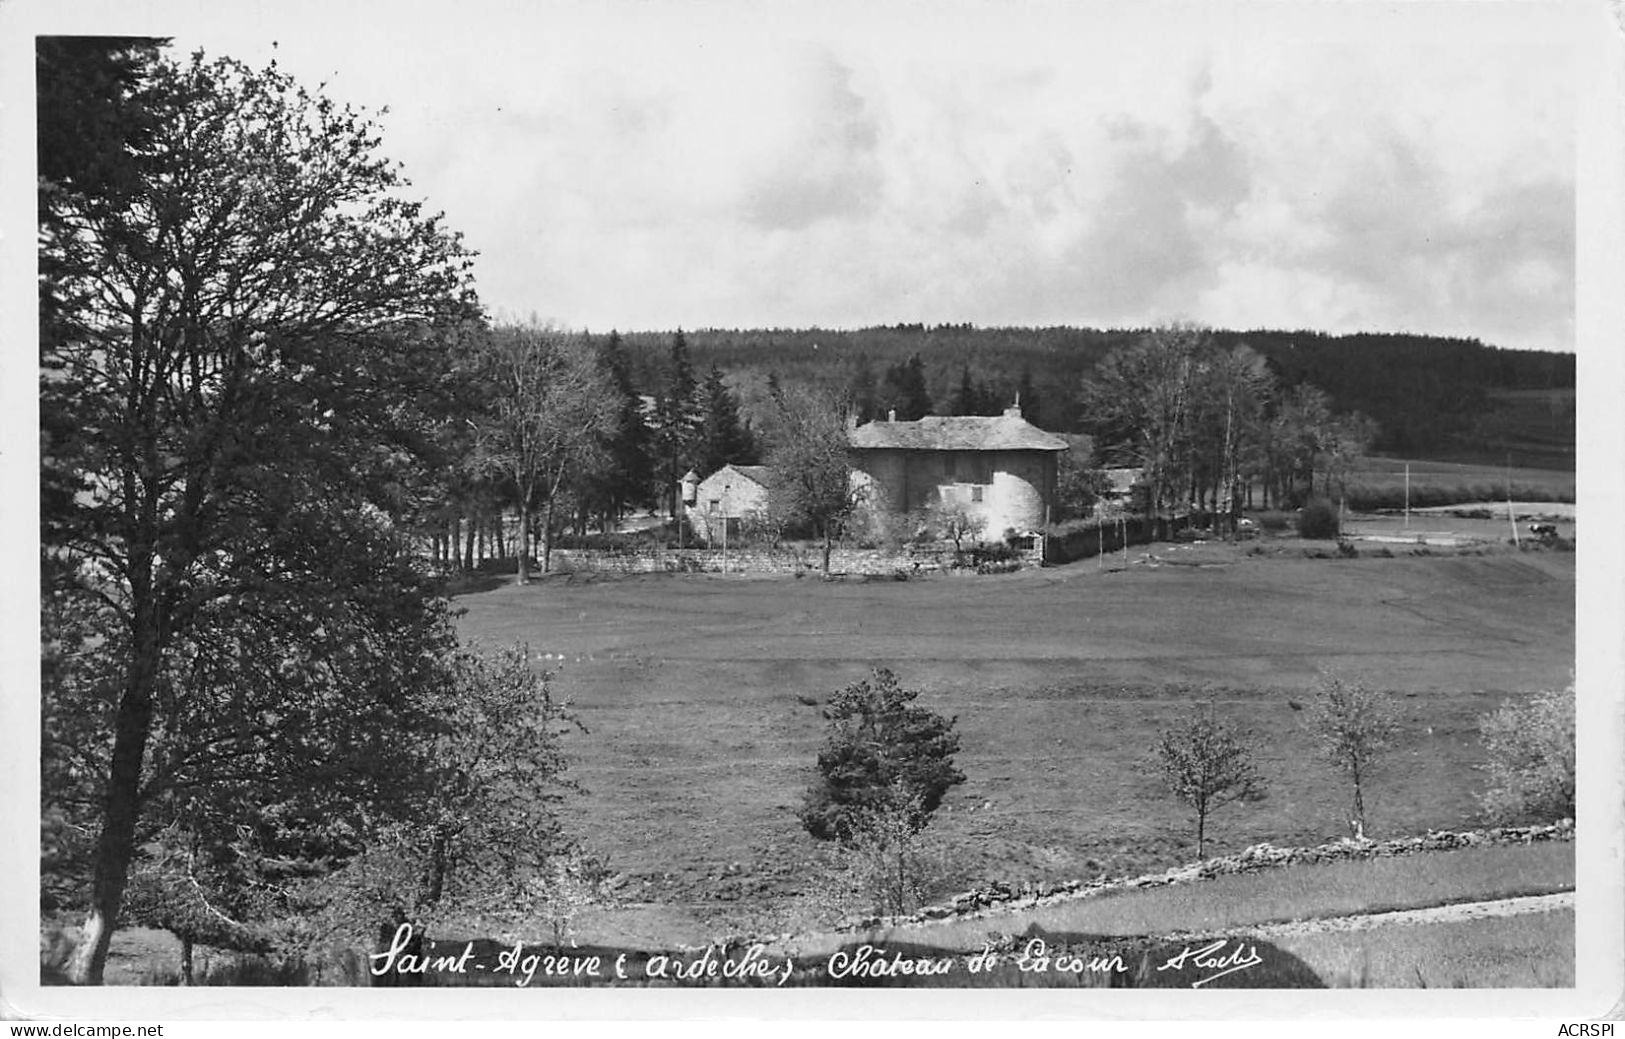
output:
[[[518,580],[530,582],[533,509],[544,502],[541,569],[552,561],[559,489],[577,472],[609,463],[619,428],[614,385],[578,338],[549,328],[494,330],[474,351],[486,387],[474,423],[474,465],[500,476],[518,499]]]

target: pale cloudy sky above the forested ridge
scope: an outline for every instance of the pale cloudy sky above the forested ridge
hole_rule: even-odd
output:
[[[1550,5],[1126,7],[296,0],[128,28],[254,63],[275,41],[388,106],[385,151],[481,252],[499,315],[1573,350]]]

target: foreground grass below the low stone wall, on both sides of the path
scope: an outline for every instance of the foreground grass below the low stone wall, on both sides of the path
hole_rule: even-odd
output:
[[[1051,946],[1100,946],[1113,938],[1172,933],[1235,933],[1279,922],[1326,920],[1346,914],[1432,907],[1563,891],[1575,881],[1575,846],[1550,842],[1425,852],[1365,862],[1294,865],[1259,873],[1120,891],[1060,904],[994,912],[965,920],[912,924],[866,932],[863,941],[912,954],[964,956],[991,935],[1040,933]],[[770,956],[816,964],[860,935],[798,935],[769,946]],[[1300,963],[1329,987],[1503,987],[1573,984],[1573,912],[1549,911],[1508,919],[1391,922],[1360,930],[1269,933],[1263,943]],[[455,945],[455,943],[453,943]],[[1014,940],[1012,948],[1024,945]],[[1173,948],[1176,943],[1170,945]],[[925,953],[923,950],[930,950]],[[107,982],[177,984],[179,943],[167,932],[127,928],[114,938]],[[247,958],[252,961],[252,958]],[[328,961],[320,976],[278,972],[229,953],[198,950],[198,984],[362,984],[356,958]],[[956,984],[973,984],[960,972]],[[983,979],[991,980],[991,979]],[[996,984],[1032,984],[1004,972]],[[1050,979],[1050,982],[1066,979]],[[1074,979],[1076,980],[1076,979]],[[1251,984],[1280,984],[1263,972]]]

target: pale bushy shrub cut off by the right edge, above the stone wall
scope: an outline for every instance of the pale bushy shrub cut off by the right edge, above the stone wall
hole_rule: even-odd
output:
[[[1479,720],[1490,789],[1482,795],[1495,823],[1575,818],[1575,686],[1503,704]]]

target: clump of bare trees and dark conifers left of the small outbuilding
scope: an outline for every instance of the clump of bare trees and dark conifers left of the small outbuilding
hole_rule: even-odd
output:
[[[512,548],[518,556],[525,582],[533,556],[548,567],[562,530],[613,530],[629,512],[656,506],[676,519],[687,470],[710,473],[760,455],[734,390],[718,367],[696,379],[681,332],[647,395],[632,384],[616,333],[595,345],[543,327],[483,330],[453,376],[450,478],[440,511],[429,517],[432,537],[448,546],[436,551],[444,563],[473,567],[489,530],[496,554]],[[512,546],[507,514],[518,517]]]

